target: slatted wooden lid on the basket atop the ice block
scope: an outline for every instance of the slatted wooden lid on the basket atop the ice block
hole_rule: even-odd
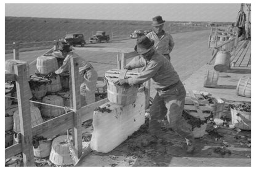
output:
[[[105,72],[105,77],[110,82],[115,82],[119,78],[119,74],[121,73],[120,69],[111,69]],[[124,79],[128,79],[130,77],[136,77],[140,75],[137,71],[127,71]]]

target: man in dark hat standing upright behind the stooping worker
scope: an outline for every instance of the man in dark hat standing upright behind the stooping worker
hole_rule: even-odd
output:
[[[154,31],[146,34],[146,36],[154,41],[156,50],[170,61],[170,52],[174,48],[174,39],[162,29],[164,22],[160,15],[154,17],[152,21]]]

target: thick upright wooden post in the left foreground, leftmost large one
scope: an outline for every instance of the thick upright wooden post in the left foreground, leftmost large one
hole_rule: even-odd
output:
[[[33,136],[31,129],[30,101],[28,90],[28,77],[26,76],[26,64],[14,66],[17,75],[18,114],[20,117],[20,133],[22,134],[22,156],[24,166],[34,166]]]

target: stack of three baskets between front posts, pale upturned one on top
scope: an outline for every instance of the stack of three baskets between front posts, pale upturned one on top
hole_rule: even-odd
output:
[[[58,95],[62,90],[60,75],[55,74],[58,69],[58,61],[55,56],[39,56],[36,60],[36,75],[30,79],[31,89],[33,91],[33,100],[43,102],[49,105],[41,104],[41,114],[46,118],[57,117],[65,113],[60,107],[64,106],[63,98]]]

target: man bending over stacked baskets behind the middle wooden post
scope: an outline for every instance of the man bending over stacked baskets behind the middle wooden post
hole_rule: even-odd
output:
[[[60,66],[55,74],[69,74],[68,63],[71,57],[78,57],[79,59],[79,74],[80,74],[80,93],[81,93],[81,106],[86,106],[92,102],[95,102],[95,90],[98,79],[98,74],[95,71],[92,64],[87,62],[84,58],[81,58],[76,53],[72,52],[69,44],[62,42],[59,47],[62,52],[63,64]]]

